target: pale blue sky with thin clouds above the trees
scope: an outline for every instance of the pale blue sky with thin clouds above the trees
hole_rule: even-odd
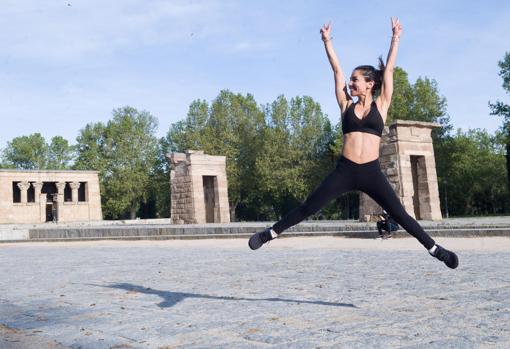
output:
[[[311,96],[336,123],[321,25],[332,22],[349,74],[386,57],[390,16],[411,82],[437,81],[455,128],[495,131],[488,101],[510,102],[497,66],[510,51],[509,1],[1,0],[0,148],[34,132],[74,143],[125,105],[158,118],[163,136],[222,89],[260,104]]]

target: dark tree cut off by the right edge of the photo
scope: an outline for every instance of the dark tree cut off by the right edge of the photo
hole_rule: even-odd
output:
[[[498,66],[500,68],[499,76],[503,79],[503,89],[510,94],[510,52],[505,53],[505,57],[498,62]],[[510,105],[497,101],[496,103],[489,102],[489,107],[491,108],[491,115],[503,118],[501,132],[505,144],[507,189],[510,192]]]

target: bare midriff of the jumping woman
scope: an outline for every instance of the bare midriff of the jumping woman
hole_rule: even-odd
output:
[[[349,132],[344,135],[342,155],[347,159],[364,164],[379,158],[381,138],[365,132]]]

